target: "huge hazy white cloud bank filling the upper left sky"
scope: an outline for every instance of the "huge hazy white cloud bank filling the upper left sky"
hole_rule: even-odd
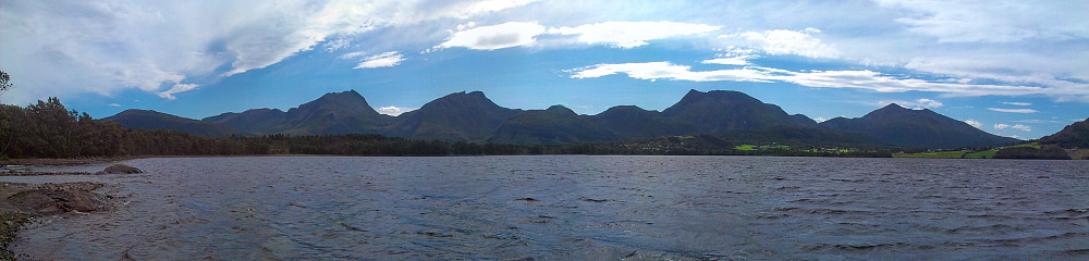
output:
[[[376,28],[469,18],[530,2],[4,2],[0,67],[21,86],[12,90],[14,100],[4,102],[85,92],[109,96],[129,88],[173,97],[185,89],[178,85],[194,76],[230,76],[315,47],[344,49],[352,46],[353,36]],[[216,71],[224,67],[225,73]]]

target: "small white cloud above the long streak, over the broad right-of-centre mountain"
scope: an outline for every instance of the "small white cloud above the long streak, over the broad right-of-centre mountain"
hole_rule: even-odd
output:
[[[820,34],[820,30],[806,28],[800,32],[786,29],[743,32],[723,35],[719,38],[727,42],[755,48],[772,55],[794,54],[808,58],[840,57],[840,50],[832,45],[821,42],[821,39],[812,36],[815,34]]]

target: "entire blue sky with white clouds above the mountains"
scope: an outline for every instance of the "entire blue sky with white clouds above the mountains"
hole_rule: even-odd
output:
[[[817,121],[897,103],[1021,139],[1089,117],[1089,1],[37,1],[0,3],[0,102],[106,117],[286,110],[354,89],[399,114],[458,91],[513,109],[664,110],[737,90]]]

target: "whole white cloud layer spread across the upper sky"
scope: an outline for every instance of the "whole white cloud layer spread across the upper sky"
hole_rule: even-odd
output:
[[[404,53],[454,48],[605,46],[634,51],[684,41],[671,48],[720,55],[701,61],[662,59],[666,55],[587,60],[573,66],[590,66],[573,70],[571,76],[625,74],[649,80],[1089,102],[1085,8],[1079,1],[1015,0],[13,0],[0,5],[0,69],[25,86],[5,95],[16,103],[58,94],[113,96],[126,89],[176,99],[204,84],[311,50],[358,61],[356,69],[376,69],[427,59]],[[846,66],[775,66],[760,63],[761,58]]]

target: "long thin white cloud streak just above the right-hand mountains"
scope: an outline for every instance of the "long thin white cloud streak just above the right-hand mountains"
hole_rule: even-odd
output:
[[[1047,89],[1033,86],[971,85],[898,78],[869,70],[793,72],[771,67],[746,66],[731,70],[692,71],[692,67],[687,65],[676,65],[670,62],[646,62],[596,64],[570,70],[568,72],[572,73],[572,78],[595,78],[623,73],[633,78],[650,80],[784,82],[807,87],[857,88],[880,92],[932,91],[956,96],[1020,96],[1047,92]],[[927,103],[933,104],[932,102]]]

